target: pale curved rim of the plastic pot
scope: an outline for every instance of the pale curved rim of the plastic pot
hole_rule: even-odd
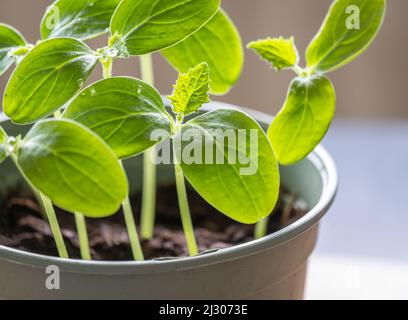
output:
[[[203,108],[211,111],[219,108],[232,108],[246,112],[253,118],[270,123],[272,116],[252,109],[238,107],[221,102],[212,102]],[[9,120],[0,114],[0,123]],[[35,268],[45,268],[57,265],[65,272],[85,274],[147,274],[161,273],[170,270],[186,270],[206,265],[217,264],[253,255],[271,247],[282,245],[312,228],[328,211],[337,193],[338,174],[335,163],[329,153],[318,146],[307,158],[319,171],[323,181],[323,191],[318,203],[299,220],[289,226],[270,234],[262,239],[226,249],[204,252],[194,257],[166,258],[148,261],[84,261],[77,259],[62,259],[41,254],[25,252],[0,245],[0,260],[26,265]]]

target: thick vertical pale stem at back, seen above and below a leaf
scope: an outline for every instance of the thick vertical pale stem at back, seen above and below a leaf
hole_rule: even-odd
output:
[[[153,61],[150,54],[140,57],[142,79],[154,85]],[[157,168],[152,157],[156,154],[156,147],[144,153],[143,159],[143,196],[141,214],[141,235],[144,239],[153,238],[156,211],[156,176]]]

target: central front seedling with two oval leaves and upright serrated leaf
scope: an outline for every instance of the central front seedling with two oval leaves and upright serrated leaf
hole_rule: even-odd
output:
[[[208,112],[185,121],[209,101],[208,65],[203,63],[182,74],[170,98],[174,117],[165,108],[160,94],[147,83],[128,77],[114,77],[97,82],[79,93],[63,114],[89,127],[102,137],[119,158],[135,156],[167,139],[173,141],[176,185],[183,228],[189,252],[198,253],[189,212],[184,176],[211,205],[243,223],[256,223],[268,216],[277,201],[279,171],[272,148],[259,125],[246,114],[230,109]],[[220,129],[215,131],[213,129]],[[183,134],[194,129],[193,138]],[[225,132],[241,141],[225,145]],[[251,152],[250,131],[256,132],[257,152]],[[156,139],[152,139],[156,134]],[[244,134],[244,136],[242,136]],[[203,144],[203,141],[205,143]],[[251,141],[252,142],[252,141]],[[189,145],[189,146],[187,146]],[[241,175],[246,165],[223,161],[187,163],[183,154],[206,155],[209,148],[221,150],[222,157],[242,153],[255,157],[256,173]],[[224,158],[223,158],[224,159]],[[252,160],[252,159],[251,159]]]

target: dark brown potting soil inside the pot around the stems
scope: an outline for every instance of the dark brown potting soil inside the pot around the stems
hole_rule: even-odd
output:
[[[253,240],[254,226],[242,225],[208,205],[189,191],[189,203],[200,252],[222,249]],[[141,195],[131,199],[135,219],[140,213]],[[71,258],[80,258],[74,216],[56,208],[58,220]],[[305,202],[281,190],[270,218],[272,233],[298,220],[307,212]],[[129,238],[121,212],[106,219],[87,219],[91,254],[94,260],[132,260]],[[48,223],[32,195],[10,192],[0,208],[0,245],[24,251],[58,256]],[[142,241],[146,259],[187,256],[187,247],[174,186],[159,188],[154,237]]]

